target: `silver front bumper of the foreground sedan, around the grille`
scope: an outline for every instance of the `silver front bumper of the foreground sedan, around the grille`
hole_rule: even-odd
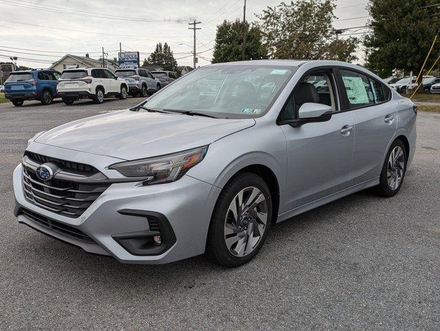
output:
[[[31,146],[39,144],[32,143]],[[49,150],[63,149],[50,146]],[[89,158],[101,158],[96,164],[102,164],[103,158],[109,159],[79,152],[76,160],[72,161],[81,161],[84,154]],[[116,171],[104,168],[99,170],[105,172],[107,177]],[[159,185],[113,183],[81,217],[72,219],[45,210],[25,199],[21,164],[14,170],[16,214],[20,223],[25,223],[50,237],[79,246],[87,252],[111,255],[123,263],[169,263],[205,252],[211,212],[218,194],[220,188],[186,175],[174,183]],[[57,223],[52,227],[45,226],[23,214],[25,210]],[[165,242],[169,239],[168,243],[171,243],[166,250],[145,255],[121,241],[121,238],[133,234],[154,232],[155,229],[151,228],[150,222],[154,217],[163,217],[175,236],[175,239],[171,240],[170,235],[165,233]],[[67,230],[59,230],[63,228],[59,225],[65,225],[64,228]],[[81,232],[91,240],[85,241],[78,236],[72,236],[69,229]]]

